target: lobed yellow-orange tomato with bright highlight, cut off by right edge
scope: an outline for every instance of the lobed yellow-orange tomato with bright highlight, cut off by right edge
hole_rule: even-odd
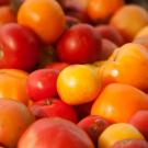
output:
[[[145,46],[128,43],[114,50],[100,68],[102,86],[118,82],[148,90],[148,50]]]

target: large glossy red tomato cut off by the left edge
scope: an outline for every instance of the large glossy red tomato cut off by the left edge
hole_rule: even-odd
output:
[[[37,36],[27,27],[8,23],[0,29],[0,68],[31,70],[39,60]]]

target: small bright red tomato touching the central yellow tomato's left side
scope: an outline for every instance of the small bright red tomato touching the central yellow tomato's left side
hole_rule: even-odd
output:
[[[55,69],[38,69],[30,73],[26,91],[33,101],[41,101],[57,95],[57,77]]]

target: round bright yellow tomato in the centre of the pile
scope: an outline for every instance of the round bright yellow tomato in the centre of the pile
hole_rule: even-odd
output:
[[[87,65],[65,68],[57,79],[57,91],[68,104],[83,104],[93,101],[100,91],[96,69]]]

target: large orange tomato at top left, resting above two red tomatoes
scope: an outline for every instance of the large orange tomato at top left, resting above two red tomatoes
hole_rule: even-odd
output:
[[[18,23],[32,29],[45,43],[54,43],[64,32],[66,16],[56,0],[26,0],[18,12]]]

